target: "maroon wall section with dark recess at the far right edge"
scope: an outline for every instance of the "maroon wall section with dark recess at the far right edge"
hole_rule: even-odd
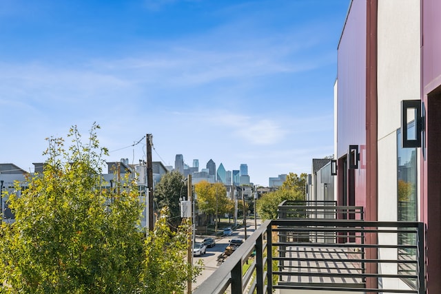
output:
[[[427,224],[427,293],[441,289],[441,1],[422,0],[422,101],[427,148],[421,163],[421,218]]]

